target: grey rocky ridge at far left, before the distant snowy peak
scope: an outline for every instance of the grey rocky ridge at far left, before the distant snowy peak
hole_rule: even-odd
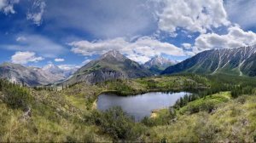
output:
[[[37,67],[26,67],[12,63],[0,65],[0,78],[7,78],[12,83],[27,86],[46,85],[65,79],[63,75],[46,72]]]

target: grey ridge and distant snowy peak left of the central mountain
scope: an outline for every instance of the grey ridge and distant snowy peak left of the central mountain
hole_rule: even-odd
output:
[[[38,68],[5,62],[0,65],[0,77],[8,79],[12,83],[38,86],[61,82],[71,76],[74,70],[76,69],[61,69],[52,64]]]

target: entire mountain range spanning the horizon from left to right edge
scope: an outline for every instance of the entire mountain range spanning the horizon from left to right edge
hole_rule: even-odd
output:
[[[27,86],[38,86],[63,82],[94,84],[112,79],[150,77],[160,73],[181,72],[254,77],[256,76],[255,61],[256,46],[207,50],[180,63],[155,56],[144,65],[126,58],[119,51],[112,50],[102,54],[97,60],[91,60],[81,68],[64,68],[53,64],[38,68],[6,62],[0,65],[0,78],[7,78],[13,83]]]

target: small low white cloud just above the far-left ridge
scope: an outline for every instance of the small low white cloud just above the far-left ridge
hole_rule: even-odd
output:
[[[26,64],[28,62],[38,62],[44,60],[43,57],[37,57],[33,52],[16,52],[12,57],[11,61],[15,64]]]

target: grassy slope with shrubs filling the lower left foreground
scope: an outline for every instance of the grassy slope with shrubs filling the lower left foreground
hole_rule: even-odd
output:
[[[111,141],[84,123],[88,112],[54,91],[35,91],[0,81],[0,142]]]

